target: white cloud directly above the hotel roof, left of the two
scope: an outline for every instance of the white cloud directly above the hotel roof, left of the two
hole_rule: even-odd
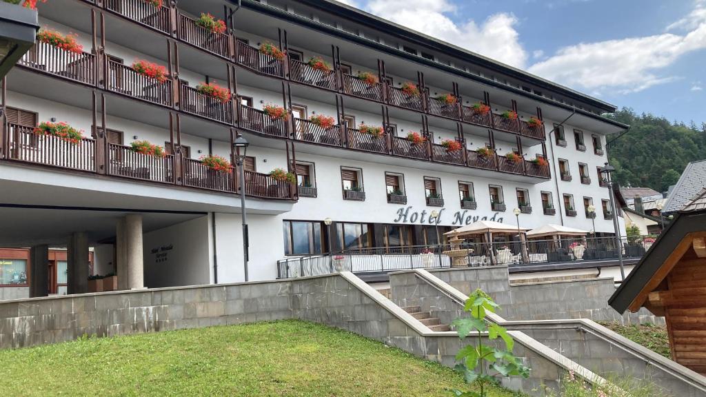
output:
[[[483,23],[455,23],[455,6],[448,0],[371,0],[364,8],[382,18],[516,67],[524,67],[522,48],[512,13],[496,13]]]

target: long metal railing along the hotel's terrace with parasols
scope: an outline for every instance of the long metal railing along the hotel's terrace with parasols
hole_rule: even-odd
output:
[[[618,244],[618,240],[620,243]],[[624,259],[639,259],[654,237],[575,237],[520,242],[468,242],[407,247],[345,249],[333,254],[304,255],[277,261],[279,278],[321,275],[335,271],[386,273],[412,268],[526,266],[536,263],[614,261],[618,247]]]

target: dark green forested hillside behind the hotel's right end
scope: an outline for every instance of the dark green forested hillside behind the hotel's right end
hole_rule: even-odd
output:
[[[608,146],[616,181],[664,191],[675,184],[686,164],[706,159],[706,123],[672,123],[652,114],[623,108],[611,118],[630,124],[630,131]],[[616,136],[609,136],[608,141]]]

